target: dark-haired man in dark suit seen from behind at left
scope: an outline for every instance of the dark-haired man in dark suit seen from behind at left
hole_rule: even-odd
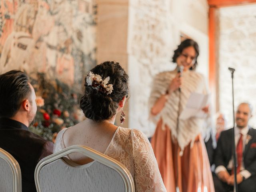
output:
[[[36,94],[26,74],[10,71],[0,75],[0,148],[20,164],[23,192],[36,192],[36,164],[53,150],[52,142],[28,130],[36,110]]]

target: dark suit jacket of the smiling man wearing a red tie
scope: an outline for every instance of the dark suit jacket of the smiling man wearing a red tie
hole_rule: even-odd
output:
[[[218,139],[215,152],[214,163],[216,167],[222,165],[227,168],[228,163],[233,155],[232,134],[233,129],[222,131]],[[248,170],[252,176],[256,175],[256,130],[249,128],[248,135],[251,139],[248,141],[243,151],[244,168]]]

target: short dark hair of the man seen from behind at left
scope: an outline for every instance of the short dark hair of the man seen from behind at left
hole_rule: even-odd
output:
[[[25,98],[31,94],[28,76],[12,70],[0,75],[0,117],[11,118]]]

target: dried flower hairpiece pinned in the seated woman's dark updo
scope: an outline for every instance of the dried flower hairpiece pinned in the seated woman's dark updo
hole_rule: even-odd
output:
[[[100,92],[106,93],[107,95],[111,94],[113,90],[113,85],[108,84],[109,80],[109,76],[102,80],[102,76],[94,74],[91,71],[86,76],[87,86],[92,86],[92,88]]]

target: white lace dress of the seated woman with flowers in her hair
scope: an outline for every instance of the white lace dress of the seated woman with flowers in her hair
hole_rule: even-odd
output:
[[[66,148],[61,130],[54,144],[54,153]],[[118,127],[104,152],[121,162],[132,174],[136,192],[166,192],[151,144],[146,136],[134,129]]]

